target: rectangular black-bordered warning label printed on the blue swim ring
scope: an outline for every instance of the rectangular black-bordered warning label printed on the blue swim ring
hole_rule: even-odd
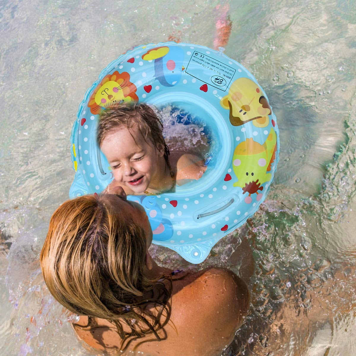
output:
[[[185,69],[185,73],[223,91],[229,87],[235,72],[236,69],[196,51]]]

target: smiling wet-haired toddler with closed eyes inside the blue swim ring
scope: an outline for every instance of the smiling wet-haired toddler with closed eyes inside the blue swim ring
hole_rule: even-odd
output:
[[[170,154],[162,131],[162,122],[147,104],[122,103],[101,114],[98,145],[114,176],[106,193],[119,186],[130,195],[160,194],[203,175],[204,159]]]

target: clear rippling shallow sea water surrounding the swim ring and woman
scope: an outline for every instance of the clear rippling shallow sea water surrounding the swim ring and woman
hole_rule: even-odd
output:
[[[355,1],[4,0],[1,355],[93,354],[76,340],[38,263],[74,176],[69,137],[85,90],[134,46],[176,39],[213,47],[216,24],[230,21],[225,54],[265,89],[281,152],[261,209],[198,267],[239,273],[247,236],[256,261],[251,309],[223,355],[356,354]],[[170,250],[151,252],[165,266],[187,266]]]

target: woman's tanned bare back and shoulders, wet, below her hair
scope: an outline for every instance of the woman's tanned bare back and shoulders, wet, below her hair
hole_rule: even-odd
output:
[[[209,268],[173,280],[171,318],[159,332],[134,340],[127,350],[150,356],[214,356],[231,343],[249,305],[246,283],[225,269]],[[81,316],[75,331],[89,346],[109,353],[120,350],[121,338],[108,320],[97,319],[95,329],[85,328],[88,317]],[[151,340],[151,341],[148,341]],[[145,341],[142,343],[142,341]]]

